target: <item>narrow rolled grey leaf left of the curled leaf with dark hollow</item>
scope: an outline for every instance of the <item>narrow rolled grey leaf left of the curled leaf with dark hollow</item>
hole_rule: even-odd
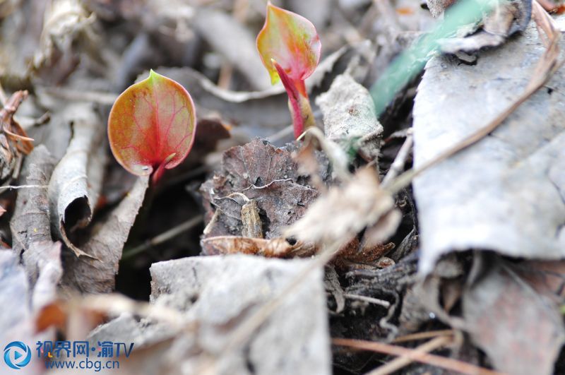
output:
[[[40,186],[47,187],[53,168],[54,159],[44,145],[38,145],[25,158],[23,184],[39,187],[18,191],[16,208],[10,220],[12,249],[16,254],[27,250],[33,242],[51,241],[47,189]]]

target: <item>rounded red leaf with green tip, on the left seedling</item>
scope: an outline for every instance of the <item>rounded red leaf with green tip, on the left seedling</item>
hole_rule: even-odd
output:
[[[196,114],[189,93],[179,83],[150,71],[114,102],[108,120],[110,148],[116,160],[139,176],[157,181],[189,154]]]

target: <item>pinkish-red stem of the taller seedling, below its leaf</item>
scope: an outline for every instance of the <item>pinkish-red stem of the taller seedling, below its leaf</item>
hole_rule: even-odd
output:
[[[272,60],[272,62],[275,69],[277,69],[280,81],[283,82],[283,86],[287,90],[288,107],[292,114],[292,126],[295,128],[295,138],[298,138],[310,126],[316,126],[306,86],[303,80],[293,80],[290,78],[285,69],[275,60]]]

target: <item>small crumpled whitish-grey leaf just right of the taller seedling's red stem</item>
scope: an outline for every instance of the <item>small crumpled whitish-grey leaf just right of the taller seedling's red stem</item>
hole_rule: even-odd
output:
[[[366,160],[379,156],[383,126],[369,90],[347,73],[336,77],[331,88],[316,98],[323,114],[323,129],[330,141],[346,151],[357,150]]]

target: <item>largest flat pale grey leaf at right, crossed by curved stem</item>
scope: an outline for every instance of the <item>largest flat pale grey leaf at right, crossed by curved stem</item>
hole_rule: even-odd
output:
[[[413,112],[415,167],[506,109],[543,51],[530,26],[475,66],[446,56],[430,60]],[[565,72],[545,87],[490,136],[415,179],[422,273],[442,254],[466,249],[565,256],[565,105],[557,94],[565,90]]]

